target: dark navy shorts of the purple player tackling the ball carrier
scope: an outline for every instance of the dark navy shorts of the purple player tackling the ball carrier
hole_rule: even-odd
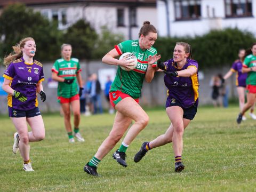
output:
[[[171,102],[170,102],[170,100],[171,100]],[[167,98],[165,108],[172,107],[172,106],[181,107],[183,109],[183,118],[186,118],[186,119],[189,119],[189,120],[192,120],[195,117],[196,112],[197,112],[196,103],[193,106],[189,107],[189,108],[183,108],[181,106],[181,103],[178,100]]]

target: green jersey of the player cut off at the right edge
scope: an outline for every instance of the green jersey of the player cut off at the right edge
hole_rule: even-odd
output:
[[[256,66],[256,56],[250,54],[244,59],[243,67],[248,68],[254,66]],[[256,85],[256,72],[249,71],[247,74],[246,85]]]

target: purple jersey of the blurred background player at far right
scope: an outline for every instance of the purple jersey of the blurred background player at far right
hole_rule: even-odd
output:
[[[232,67],[231,71],[236,73],[236,86],[246,87],[246,78],[247,73],[242,73],[243,63],[241,60],[236,60]]]

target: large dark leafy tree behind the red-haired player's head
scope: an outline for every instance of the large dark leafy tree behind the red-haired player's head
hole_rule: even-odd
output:
[[[36,59],[54,60],[60,54],[61,36],[56,25],[24,4],[11,4],[0,16],[1,57],[12,52],[12,46],[22,38],[33,37],[37,46]]]

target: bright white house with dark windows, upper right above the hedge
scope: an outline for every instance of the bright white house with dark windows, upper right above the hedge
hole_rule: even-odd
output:
[[[239,28],[256,35],[256,0],[157,0],[160,36],[203,35]]]

